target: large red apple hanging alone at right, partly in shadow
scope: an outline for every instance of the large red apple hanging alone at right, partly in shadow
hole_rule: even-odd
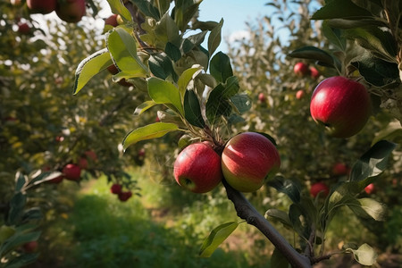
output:
[[[314,121],[324,124],[336,138],[349,138],[364,128],[371,114],[367,90],[359,82],[341,76],[322,80],[310,102]]]

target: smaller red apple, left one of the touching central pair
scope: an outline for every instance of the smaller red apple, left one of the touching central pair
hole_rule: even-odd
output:
[[[185,147],[174,163],[174,178],[193,193],[206,193],[222,180],[221,156],[202,142]]]

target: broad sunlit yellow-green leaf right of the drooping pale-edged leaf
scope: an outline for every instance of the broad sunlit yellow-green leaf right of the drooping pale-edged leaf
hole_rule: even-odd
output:
[[[136,40],[125,29],[114,28],[108,32],[106,46],[112,54],[115,65],[121,70],[119,78],[147,76],[147,66],[141,62],[137,54]]]

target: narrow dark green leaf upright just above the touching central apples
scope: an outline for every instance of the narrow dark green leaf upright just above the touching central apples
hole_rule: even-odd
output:
[[[198,128],[205,127],[197,94],[194,90],[187,90],[184,95],[184,115],[186,120]]]

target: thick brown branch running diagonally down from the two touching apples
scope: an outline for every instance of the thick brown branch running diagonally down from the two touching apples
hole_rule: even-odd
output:
[[[268,222],[262,214],[259,214],[255,207],[248,202],[247,198],[243,196],[238,190],[231,188],[230,185],[223,180],[223,185],[226,188],[228,198],[238,213],[238,216],[246,220],[248,224],[255,226],[260,230],[264,236],[269,239],[273,246],[275,246],[282,255],[284,255],[289,264],[293,268],[311,268],[309,259],[305,255],[299,254],[281,234],[273,228],[272,224]]]

